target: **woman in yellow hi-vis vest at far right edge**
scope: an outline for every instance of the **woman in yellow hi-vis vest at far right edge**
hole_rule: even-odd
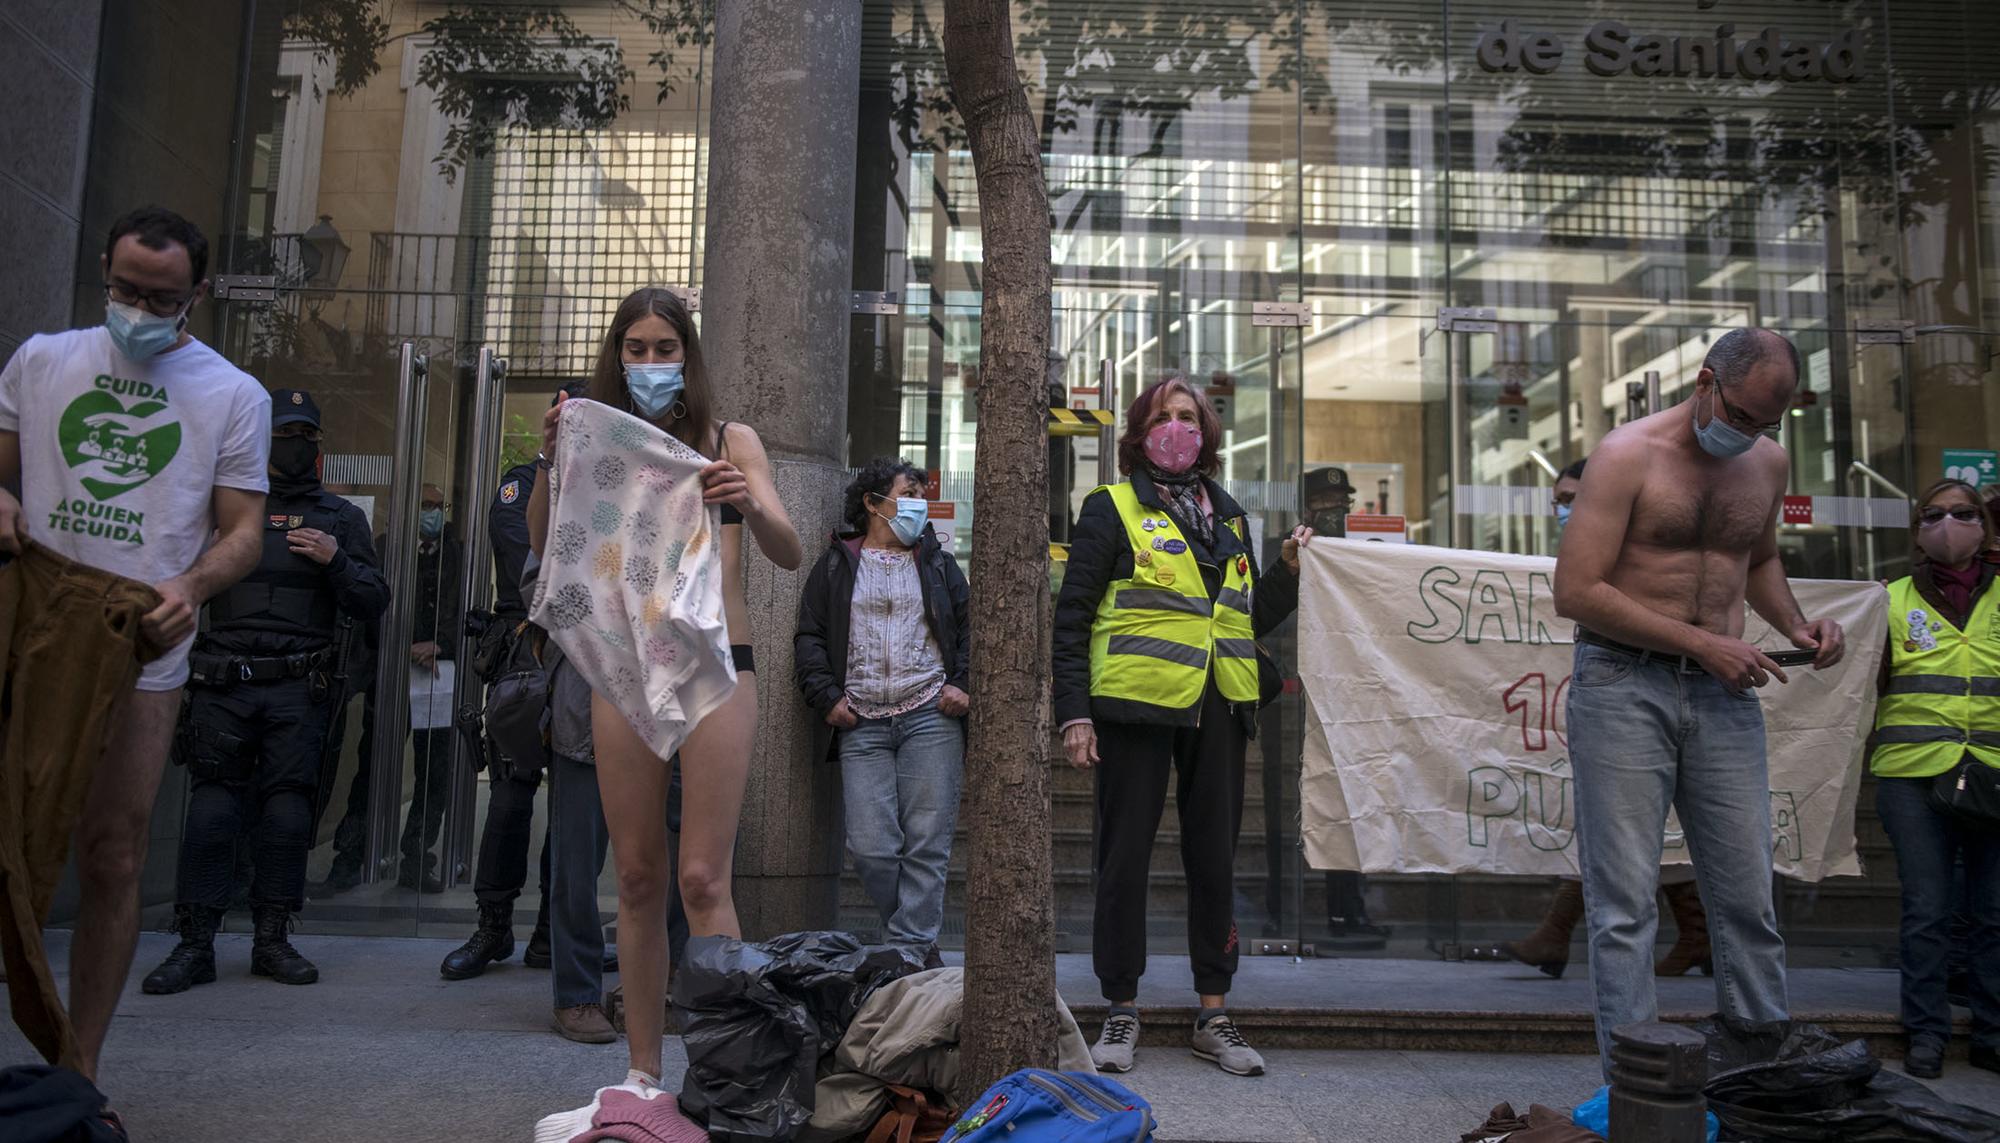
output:
[[[1888,651],[1870,737],[1876,809],[1902,879],[1904,1071],[1934,1077],[1952,1029],[1946,961],[1952,865],[1966,863],[1972,1065],[2000,1071],[2000,829],[1930,803],[1962,761],[2000,767],[2000,591],[1980,554],[1994,524],[1968,484],[1942,480],[1910,522],[1916,570],[1888,585]]]

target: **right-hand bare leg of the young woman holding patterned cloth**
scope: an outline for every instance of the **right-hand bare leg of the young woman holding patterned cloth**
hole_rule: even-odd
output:
[[[696,937],[742,935],[730,877],[754,737],[756,675],[742,673],[680,747],[680,903]]]

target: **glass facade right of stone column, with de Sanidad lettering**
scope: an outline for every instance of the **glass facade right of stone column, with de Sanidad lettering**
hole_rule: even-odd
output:
[[[964,520],[978,196],[940,114],[940,22],[936,0],[868,6],[856,290],[894,310],[856,316],[850,416],[854,458],[942,468]],[[1788,572],[1900,575],[1906,494],[1944,476],[1944,450],[2000,436],[1982,24],[1972,4],[1870,2],[1022,6],[1054,400],[1122,410],[1170,372],[1212,386],[1224,484],[1262,538],[1300,520],[1304,472],[1340,466],[1352,508],[1406,516],[1414,542],[1552,554],[1556,472],[1634,400],[1686,396],[1720,332],[1764,326],[1806,366],[1780,440],[1816,524],[1784,528]],[[1098,448],[1054,438],[1058,538],[1102,480]],[[1238,921],[1324,945],[1356,883],[1298,861],[1298,757],[1286,697],[1252,751]],[[1892,949],[1888,847],[1862,805],[1870,875],[1784,885],[1794,957]],[[1088,869],[1090,781],[1060,771],[1072,947]],[[1178,947],[1180,891],[1168,817],[1158,951]],[[1360,891],[1390,955],[1492,945],[1546,899],[1472,875]]]

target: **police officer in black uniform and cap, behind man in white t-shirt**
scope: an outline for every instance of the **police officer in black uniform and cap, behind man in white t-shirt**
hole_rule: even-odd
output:
[[[148,993],[216,979],[216,923],[250,835],[250,971],[288,985],[320,979],[286,939],[304,905],[320,755],[332,719],[340,613],[372,623],[388,583],[368,518],[320,488],[320,410],[300,390],[270,402],[270,498],[264,558],[208,603],[208,629],[188,657],[188,707],[174,761],[188,767],[188,823],[180,843],[174,927],[180,943],[154,969]]]

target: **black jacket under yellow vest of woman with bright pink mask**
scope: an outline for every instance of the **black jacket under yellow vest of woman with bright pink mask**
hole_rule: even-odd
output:
[[[1250,546],[1228,528],[1230,520],[1244,520],[1244,510],[1230,494],[1212,480],[1208,504],[1216,512],[1216,546],[1208,550],[1186,520],[1162,504],[1152,480],[1144,472],[1132,474],[1132,490],[1146,508],[1166,512],[1174,518],[1180,534],[1188,540],[1194,558],[1202,566],[1202,585],[1214,597],[1222,587],[1222,564],[1228,560],[1250,560]],[[1280,564],[1282,568],[1282,564]],[[1054,657],[1054,697],[1056,725],[1094,721],[1132,721],[1150,725],[1194,725],[1200,701],[1190,707],[1164,707],[1136,699],[1094,699],[1090,697],[1090,627],[1098,619],[1098,603],[1104,589],[1114,579],[1132,577],[1132,544],[1126,540],[1124,522],[1108,492],[1094,492],[1084,500],[1084,510],[1070,530],[1070,562],[1062,573],[1062,593],[1056,595],[1056,629],[1052,635]],[[1266,589],[1266,583],[1270,589]],[[1262,637],[1284,621],[1298,607],[1298,581],[1290,575],[1276,579],[1254,579],[1250,593],[1252,629]],[[1252,703],[1244,703],[1246,707]]]

